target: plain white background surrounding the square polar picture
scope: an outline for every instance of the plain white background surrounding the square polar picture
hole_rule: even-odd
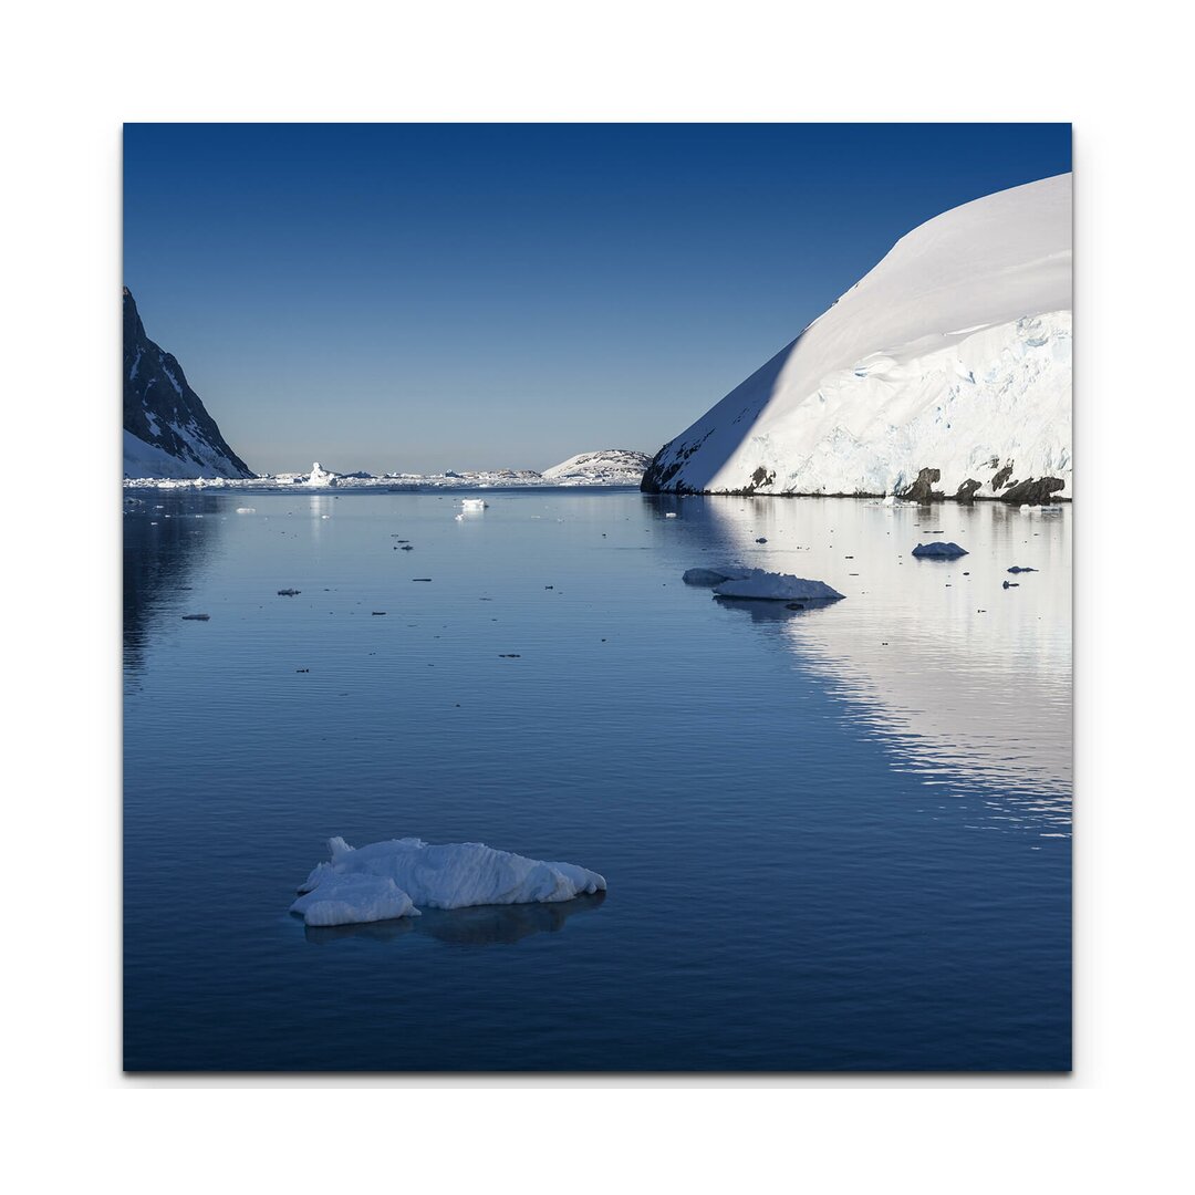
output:
[[[1193,637],[1176,513],[1195,467],[1191,139],[1176,11],[1139,2],[1115,24],[1077,5],[754,0],[8,13],[0,1024],[12,1189],[1189,1181]],[[1072,1077],[121,1076],[121,123],[196,120],[1074,122]],[[185,185],[186,163],[172,168]],[[212,877],[190,878],[202,909]]]

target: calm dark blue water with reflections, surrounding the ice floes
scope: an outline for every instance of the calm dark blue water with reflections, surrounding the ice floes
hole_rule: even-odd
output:
[[[1070,1067],[1070,510],[136,497],[128,1070]],[[725,558],[847,599],[680,582]],[[306,930],[333,834],[609,890]]]

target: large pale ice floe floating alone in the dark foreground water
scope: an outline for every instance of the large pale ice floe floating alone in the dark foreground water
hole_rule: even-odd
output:
[[[343,838],[333,838],[327,847],[331,860],[312,871],[290,906],[307,925],[418,917],[419,905],[552,903],[606,889],[596,871],[527,859],[482,842],[431,846],[418,838],[399,838],[354,850]]]

